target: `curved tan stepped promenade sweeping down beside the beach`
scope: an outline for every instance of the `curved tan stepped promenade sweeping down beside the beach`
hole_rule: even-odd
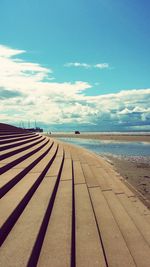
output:
[[[72,233],[76,237],[77,251],[82,252],[82,255],[76,253],[74,258],[77,262],[80,260],[79,266],[87,266],[89,259],[90,266],[93,263],[106,266],[108,261],[103,264],[101,256],[104,260],[110,259],[110,266],[120,266],[122,262],[124,266],[131,266],[126,259],[132,254],[131,242],[134,255],[137,240],[141,263],[143,259],[146,259],[144,264],[150,262],[147,245],[150,243],[147,235],[150,210],[106,158],[42,135],[35,135],[40,138],[38,145],[32,135],[21,136],[19,144],[20,136],[15,136],[16,133],[10,138],[7,134],[1,135],[2,155],[6,155],[6,146],[13,145],[11,151],[8,148],[13,158],[10,153],[1,163],[1,244],[4,242],[4,245],[1,246],[0,265],[58,266],[58,259],[62,266],[66,262],[69,265],[74,245],[70,242]],[[17,153],[18,148],[22,148],[22,139],[27,149]],[[8,140],[12,144],[9,145]],[[26,142],[34,142],[34,145],[28,150]],[[118,244],[118,248],[114,250],[112,244]],[[122,258],[118,256],[120,244]],[[36,248],[40,246],[40,251],[33,249],[35,245]]]

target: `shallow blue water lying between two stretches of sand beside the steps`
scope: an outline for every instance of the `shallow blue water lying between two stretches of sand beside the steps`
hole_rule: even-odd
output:
[[[59,138],[64,142],[87,148],[100,155],[116,156],[150,156],[150,143],[148,142],[121,142],[121,141],[104,141],[82,138]]]

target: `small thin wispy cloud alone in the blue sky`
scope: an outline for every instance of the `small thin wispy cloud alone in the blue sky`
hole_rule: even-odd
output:
[[[98,63],[94,65],[94,64],[87,64],[87,63],[80,63],[80,62],[69,62],[69,63],[66,63],[64,67],[77,67],[77,68],[85,68],[85,69],[91,69],[91,68],[108,69],[109,64]]]

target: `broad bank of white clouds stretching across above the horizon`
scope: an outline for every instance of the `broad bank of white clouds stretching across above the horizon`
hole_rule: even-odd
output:
[[[17,55],[20,51],[25,53],[23,50],[5,47],[3,51],[0,54],[0,121],[36,119],[48,125],[87,123],[101,127],[150,122],[150,89],[87,96],[89,83],[48,81],[53,78],[52,69],[18,60]]]

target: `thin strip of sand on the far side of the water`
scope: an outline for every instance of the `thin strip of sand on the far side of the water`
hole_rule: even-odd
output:
[[[112,140],[112,141],[129,141],[129,142],[150,142],[150,135],[129,135],[129,134],[72,134],[58,133],[45,134],[53,138],[82,138],[82,139],[97,139],[97,140]]]

